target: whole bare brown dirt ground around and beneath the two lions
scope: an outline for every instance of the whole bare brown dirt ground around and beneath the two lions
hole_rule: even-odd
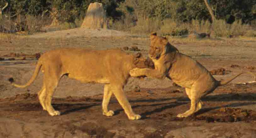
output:
[[[217,80],[241,71],[256,73],[256,39],[169,38],[180,52],[213,70]],[[190,107],[184,88],[168,79],[130,78],[128,99],[141,120],[129,121],[116,98],[102,115],[103,85],[83,84],[64,77],[52,100],[62,115],[49,116],[37,98],[43,74],[27,88],[8,83],[13,77],[24,84],[39,56],[59,47],[121,48],[147,55],[147,35],[115,30],[70,29],[35,35],[0,34],[0,138],[256,138],[256,82],[241,75],[205,96],[204,107],[188,118],[177,118]],[[137,47],[135,50],[132,50]]]

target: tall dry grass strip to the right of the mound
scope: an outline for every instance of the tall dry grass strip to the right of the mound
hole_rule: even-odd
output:
[[[256,37],[256,30],[248,24],[243,24],[241,20],[233,24],[226,23],[225,20],[216,20],[211,24],[209,21],[192,20],[191,23],[180,23],[173,19],[160,20],[160,18],[139,18],[135,25],[131,25],[131,19],[123,18],[117,22],[114,29],[128,30],[131,33],[157,32],[161,35],[186,36],[193,33],[209,33],[211,37]]]

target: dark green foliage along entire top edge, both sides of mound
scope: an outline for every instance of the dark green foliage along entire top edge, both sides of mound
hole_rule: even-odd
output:
[[[108,17],[121,19],[122,15],[134,14],[140,17],[172,18],[182,22],[192,19],[208,20],[209,12],[204,0],[0,0],[0,6],[6,2],[5,12],[15,15],[32,16],[45,14],[55,8],[60,11],[63,22],[74,22],[76,17],[84,17],[91,2],[101,2]],[[227,23],[242,19],[250,23],[256,18],[255,0],[209,0],[217,19]],[[121,12],[122,11],[122,12]]]

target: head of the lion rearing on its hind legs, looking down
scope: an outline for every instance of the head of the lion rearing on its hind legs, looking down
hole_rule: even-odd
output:
[[[152,33],[150,40],[149,57],[152,60],[158,60],[166,54],[178,52],[178,49],[172,46],[166,37],[157,36],[157,33]]]

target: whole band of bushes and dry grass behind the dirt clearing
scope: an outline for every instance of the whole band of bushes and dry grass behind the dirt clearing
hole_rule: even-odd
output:
[[[87,7],[95,1],[103,3],[111,29],[163,35],[204,32],[216,37],[256,36],[255,0],[207,0],[214,22],[204,0],[0,0],[0,8],[8,3],[2,10],[0,31],[44,31],[53,18],[59,29],[80,27]]]

